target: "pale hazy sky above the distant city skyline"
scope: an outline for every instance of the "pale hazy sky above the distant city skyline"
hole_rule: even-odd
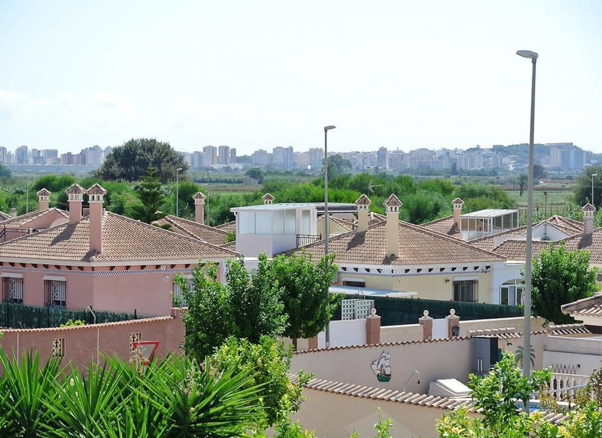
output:
[[[602,153],[600,1],[0,0],[0,146]]]

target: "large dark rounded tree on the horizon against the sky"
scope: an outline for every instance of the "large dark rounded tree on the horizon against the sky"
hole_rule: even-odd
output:
[[[96,171],[96,176],[103,180],[136,181],[149,167],[157,169],[160,180],[169,181],[175,178],[176,169],[186,171],[188,163],[167,142],[154,138],[132,138],[113,149]]]

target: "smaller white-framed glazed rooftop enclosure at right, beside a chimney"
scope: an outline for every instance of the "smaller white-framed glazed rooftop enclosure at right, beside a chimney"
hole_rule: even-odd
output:
[[[486,208],[461,214],[462,240],[474,240],[518,227],[518,210]]]

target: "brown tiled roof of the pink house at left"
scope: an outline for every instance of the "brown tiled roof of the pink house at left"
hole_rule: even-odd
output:
[[[90,252],[90,217],[0,245],[0,260],[126,262],[236,257],[228,249],[104,211],[102,253]]]

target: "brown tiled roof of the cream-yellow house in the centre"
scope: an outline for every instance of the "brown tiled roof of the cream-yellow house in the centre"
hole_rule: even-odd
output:
[[[317,257],[324,255],[324,241],[291,252],[305,250]],[[418,225],[399,221],[398,257],[386,255],[386,223],[370,225],[367,231],[340,234],[330,237],[330,252],[337,253],[338,263],[360,263],[377,265],[408,265],[430,263],[475,263],[501,261],[503,257],[492,252],[474,248],[468,243],[452,239],[444,234],[427,230]]]

